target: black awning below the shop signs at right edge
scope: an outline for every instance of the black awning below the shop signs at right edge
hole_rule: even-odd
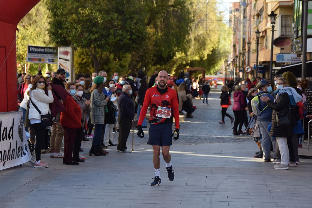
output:
[[[292,72],[296,77],[301,77],[302,62],[294,64],[286,64],[279,67],[273,67],[273,70],[278,70],[276,74],[284,72]],[[307,61],[307,77],[312,77],[312,60]]]

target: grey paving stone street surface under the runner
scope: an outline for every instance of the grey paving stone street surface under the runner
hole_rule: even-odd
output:
[[[110,146],[100,157],[89,156],[85,143],[86,162],[79,165],[42,154],[49,168],[27,163],[0,171],[0,207],[312,207],[312,161],[275,170],[253,158],[258,147],[250,136],[232,136],[229,119],[217,123],[220,92],[209,96],[210,106],[194,101],[194,118],[181,123],[180,139],[173,141],[174,181],[161,159],[162,185],[149,185],[153,150],[145,138],[134,137],[133,153]],[[131,134],[128,140],[131,149]]]

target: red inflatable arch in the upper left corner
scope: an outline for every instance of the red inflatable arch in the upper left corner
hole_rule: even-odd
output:
[[[0,112],[17,111],[17,24],[40,0],[0,1]]]

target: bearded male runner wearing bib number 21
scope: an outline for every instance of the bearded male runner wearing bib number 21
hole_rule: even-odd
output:
[[[153,163],[155,168],[154,182],[151,186],[161,185],[160,180],[160,147],[162,147],[163,159],[166,162],[168,178],[170,181],[174,179],[172,165],[170,164],[171,155],[169,154],[170,145],[172,145],[172,137],[174,140],[179,139],[179,103],[177,93],[166,86],[168,81],[168,73],[161,71],[158,73],[158,85],[151,87],[146,91],[143,107],[138,121],[138,136],[144,137],[142,130],[142,122],[146,116],[147,108],[149,111],[149,140],[147,144],[153,145]],[[172,133],[173,118],[175,120],[175,132]]]

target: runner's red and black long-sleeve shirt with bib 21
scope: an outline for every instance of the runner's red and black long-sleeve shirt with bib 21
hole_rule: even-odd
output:
[[[179,129],[179,103],[177,98],[177,92],[171,88],[167,87],[167,91],[161,94],[157,86],[151,87],[146,91],[144,97],[143,107],[141,109],[138,125],[142,125],[143,119],[147,113],[147,108],[150,105],[149,110],[149,123],[150,124],[165,124],[165,123],[172,123],[172,118],[174,117],[175,120],[175,127]],[[159,108],[163,107],[163,108]],[[165,112],[167,113],[166,109],[171,109],[170,118],[159,117],[158,115]],[[163,110],[164,109],[164,110]],[[158,114],[158,115],[157,115]],[[168,115],[167,115],[168,116]]]

